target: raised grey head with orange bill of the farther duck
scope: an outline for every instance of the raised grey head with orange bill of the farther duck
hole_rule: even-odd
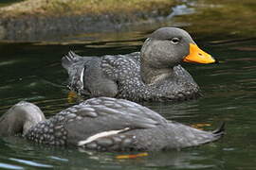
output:
[[[177,27],[162,27],[153,32],[141,48],[141,74],[145,83],[154,77],[171,74],[182,61],[197,63],[216,62],[201,50],[188,32]]]

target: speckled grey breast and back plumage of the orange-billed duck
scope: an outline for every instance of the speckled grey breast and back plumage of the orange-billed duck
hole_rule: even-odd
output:
[[[182,101],[198,95],[199,87],[181,65],[174,66],[172,76],[165,77],[159,82],[145,84],[140,75],[139,55],[137,52],[102,57],[102,72],[119,84],[116,97],[134,101]],[[134,59],[134,56],[137,58]]]

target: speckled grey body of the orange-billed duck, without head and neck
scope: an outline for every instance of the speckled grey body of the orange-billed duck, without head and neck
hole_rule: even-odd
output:
[[[132,101],[182,101],[200,95],[198,85],[181,65],[174,66],[172,76],[163,75],[157,82],[145,84],[140,75],[139,55],[136,52],[78,58],[70,52],[68,58],[73,63],[67,67],[72,69],[68,71],[68,86],[85,97],[108,96]]]

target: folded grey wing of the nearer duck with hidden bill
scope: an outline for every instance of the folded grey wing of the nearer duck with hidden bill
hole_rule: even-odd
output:
[[[102,133],[106,137],[131,129],[167,124],[166,119],[155,111],[123,99],[93,98],[64,110],[61,114],[72,110],[76,110],[76,117],[64,123],[69,144],[88,143],[90,137],[101,136]]]

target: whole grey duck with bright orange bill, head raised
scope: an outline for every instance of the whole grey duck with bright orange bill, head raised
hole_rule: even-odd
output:
[[[199,87],[179,63],[214,63],[188,32],[162,27],[127,55],[80,57],[69,52],[62,65],[69,88],[85,97],[108,96],[132,101],[182,101],[196,98]]]

